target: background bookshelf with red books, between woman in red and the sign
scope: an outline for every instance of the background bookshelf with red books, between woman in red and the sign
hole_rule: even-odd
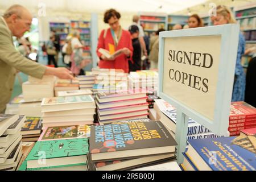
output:
[[[166,14],[151,14],[141,13],[139,14],[139,24],[144,27],[144,32],[150,36],[160,28],[167,30],[167,15]]]

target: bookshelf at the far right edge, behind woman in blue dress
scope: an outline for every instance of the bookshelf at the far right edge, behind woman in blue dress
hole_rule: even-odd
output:
[[[235,9],[234,14],[236,16],[237,23],[240,24],[240,29],[245,36],[246,46],[245,49],[250,47],[256,47],[256,7],[248,6],[240,9]],[[243,55],[241,64],[243,68],[248,67],[249,61],[253,57],[256,51],[253,51],[247,55]]]

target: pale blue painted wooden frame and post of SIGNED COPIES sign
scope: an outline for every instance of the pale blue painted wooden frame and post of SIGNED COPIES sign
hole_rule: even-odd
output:
[[[239,28],[240,27],[238,24],[225,24],[221,26],[160,32],[158,94],[160,98],[163,98],[163,100],[166,100],[170,104],[174,105],[177,108],[177,114],[179,114],[176,125],[176,140],[178,143],[177,158],[179,159],[178,163],[183,161],[183,156],[181,154],[185,151],[184,145],[187,139],[187,133],[185,131],[187,131],[188,117],[194,119],[196,122],[205,126],[215,134],[228,136],[229,109],[234,82],[234,69],[237,57]],[[201,115],[196,110],[193,110],[193,108],[185,106],[178,100],[167,96],[167,94],[163,92],[164,39],[210,35],[221,35],[220,64],[218,65],[216,105],[214,106],[213,121],[204,117],[204,115]],[[191,46],[193,46],[193,44]]]

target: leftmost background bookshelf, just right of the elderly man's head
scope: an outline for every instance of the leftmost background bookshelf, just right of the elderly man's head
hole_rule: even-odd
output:
[[[60,36],[60,47],[65,44],[65,39],[69,34],[68,22],[49,22],[50,31],[55,31]],[[61,49],[61,48],[60,48]]]

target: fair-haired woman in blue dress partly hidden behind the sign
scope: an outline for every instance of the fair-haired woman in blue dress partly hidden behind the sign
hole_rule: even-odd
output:
[[[223,5],[217,6],[216,16],[211,17],[213,25],[236,23],[232,11]],[[245,38],[242,33],[239,34],[236,69],[234,75],[234,86],[232,94],[232,102],[243,101],[245,99],[245,73],[241,65],[241,57],[245,52]]]

